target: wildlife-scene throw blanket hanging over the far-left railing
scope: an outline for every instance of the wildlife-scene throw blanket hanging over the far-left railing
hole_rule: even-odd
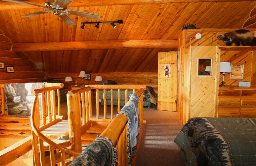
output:
[[[44,88],[44,82],[4,84],[7,116],[30,117],[34,100],[30,91],[39,88]],[[39,101],[41,101],[41,98]]]

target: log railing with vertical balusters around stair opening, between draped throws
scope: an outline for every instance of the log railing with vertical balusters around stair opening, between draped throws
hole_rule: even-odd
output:
[[[97,90],[99,89],[115,89],[115,88],[122,88],[122,89],[127,89],[127,87],[129,86],[126,86],[126,87],[123,87],[123,86],[119,86],[119,87],[116,87],[116,86],[113,86],[113,85],[104,85],[104,86],[95,86],[93,88],[96,89],[96,96],[99,96],[99,94],[97,93]],[[137,86],[133,87],[133,86],[130,86],[129,87],[130,89],[132,88],[138,88]],[[146,86],[145,86],[146,88]],[[81,93],[82,95],[82,98],[83,98],[83,93],[85,93],[85,111],[83,111],[83,113],[85,112],[88,112],[89,114],[86,114],[85,118],[89,118],[89,121],[92,120],[97,120],[97,118],[91,118],[91,117],[88,117],[92,114],[90,114],[90,111],[92,111],[90,108],[90,104],[88,106],[88,110],[86,109],[87,108],[87,102],[90,103],[90,101],[87,101],[87,96],[89,94],[89,91],[91,91],[91,87],[84,87],[84,88],[81,88],[81,89],[77,89],[77,90],[73,90],[73,91],[69,91],[68,94],[67,94],[67,101],[68,101],[68,114],[70,114],[70,112],[73,112],[76,115],[80,115],[80,108],[81,108],[81,105],[79,104],[80,103],[80,95],[79,93]],[[140,99],[138,102],[138,107],[139,107],[139,117],[140,117],[140,123],[142,124],[142,119],[143,119],[143,86],[140,88],[138,88],[139,90],[135,92],[134,90],[134,93],[136,93],[137,95],[139,95]],[[87,92],[87,93],[86,93]],[[120,94],[119,94],[120,95]],[[127,93],[126,93],[127,95]],[[91,96],[91,94],[89,94],[89,97]],[[111,96],[113,96],[113,94],[111,93]],[[88,97],[88,98],[89,98]],[[120,96],[119,96],[120,98]],[[127,96],[128,98],[128,96]],[[97,100],[99,100],[99,97],[97,97]],[[127,100],[128,101],[128,100]],[[83,107],[83,99],[82,99],[82,107]],[[99,110],[99,102],[96,102],[96,111]],[[113,103],[112,103],[113,104]],[[112,105],[111,104],[111,105]],[[124,105],[125,107],[126,105]],[[105,107],[105,106],[104,106]],[[111,113],[113,111],[112,109],[113,105],[111,106]],[[120,107],[120,105],[118,106]],[[105,110],[105,108],[104,108]],[[104,114],[105,114],[105,111],[104,111]],[[99,112],[97,113],[97,115],[99,115]],[[75,117],[74,116],[74,117]],[[99,116],[98,116],[99,117]],[[104,116],[104,118],[102,118],[102,121],[105,119],[106,121],[111,121],[110,124],[108,125],[108,127],[101,133],[101,136],[103,137],[108,137],[108,139],[112,140],[113,141],[113,145],[114,147],[116,147],[117,149],[117,157],[118,157],[118,163],[116,163],[118,166],[122,165],[122,166],[128,166],[128,153],[127,153],[127,131],[128,131],[128,118],[126,117],[126,115],[124,114],[118,114],[114,119],[111,118],[111,119],[107,119],[105,118],[106,116]],[[98,118],[99,119],[99,118]],[[101,121],[101,122],[102,122]],[[76,122],[76,124],[73,124],[73,130],[76,130],[77,127],[76,126],[80,126],[79,123],[80,121],[76,119],[76,121],[74,121],[74,123]],[[72,123],[72,122],[69,122],[69,123]],[[79,129],[79,128],[78,128]],[[75,133],[74,133],[75,134]],[[81,141],[81,135],[79,137],[79,132],[78,134],[76,134],[76,137],[74,137],[74,141],[79,145],[79,142]],[[80,140],[79,140],[80,138]],[[81,144],[81,143],[80,143]],[[86,150],[86,149],[85,149]]]

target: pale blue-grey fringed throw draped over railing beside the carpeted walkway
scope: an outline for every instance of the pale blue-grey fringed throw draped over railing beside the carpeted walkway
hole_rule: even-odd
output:
[[[128,145],[127,145],[127,153],[128,155],[128,163],[131,166],[132,156],[137,154],[137,143],[139,142],[139,133],[140,133],[140,117],[139,117],[139,109],[138,102],[139,96],[137,94],[129,95],[130,100],[124,105],[121,111],[118,114],[124,114],[128,118]]]

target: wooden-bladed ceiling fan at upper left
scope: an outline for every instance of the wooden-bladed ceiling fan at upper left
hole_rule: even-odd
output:
[[[92,14],[92,13],[86,13],[82,11],[75,11],[75,10],[70,10],[67,9],[68,4],[72,2],[72,0],[46,0],[45,1],[45,6],[37,5],[37,4],[29,4],[26,2],[21,2],[21,1],[16,1],[16,0],[2,0],[2,1],[7,1],[7,2],[13,2],[13,3],[18,3],[18,4],[27,4],[31,6],[37,6],[41,7],[44,9],[52,10],[52,11],[39,11],[36,13],[31,13],[31,14],[26,14],[23,15],[24,17],[33,17],[33,16],[38,16],[41,14],[46,14],[46,13],[53,13],[55,15],[58,15],[63,21],[65,21],[68,25],[76,25],[76,22],[71,19],[68,14],[76,15],[76,16],[81,16],[81,17],[87,17],[90,19],[100,19],[100,15],[98,14]]]

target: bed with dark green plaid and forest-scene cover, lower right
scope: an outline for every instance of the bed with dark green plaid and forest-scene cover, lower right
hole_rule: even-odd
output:
[[[256,165],[256,118],[191,118],[174,142],[186,166]]]

